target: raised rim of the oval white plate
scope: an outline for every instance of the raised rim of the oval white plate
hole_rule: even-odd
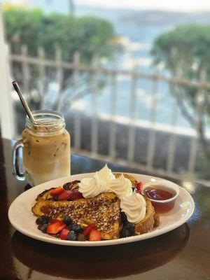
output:
[[[156,177],[156,176],[151,176],[151,175],[146,175],[146,174],[138,174],[138,173],[130,173],[130,172],[113,172],[113,174],[115,173],[123,173],[123,174],[130,174],[132,176],[145,176],[145,177],[151,177],[153,179],[158,179],[158,180],[165,180],[165,181],[169,181],[167,179],[162,179],[160,177]],[[147,232],[144,233],[143,235],[134,235],[132,237],[125,237],[125,238],[119,238],[119,239],[111,239],[111,240],[102,240],[102,241],[69,241],[69,240],[62,240],[62,239],[57,239],[56,237],[48,237],[48,236],[42,236],[42,235],[38,235],[38,234],[34,234],[31,233],[27,230],[22,230],[22,228],[18,225],[18,223],[15,223],[12,213],[13,213],[13,208],[15,207],[15,204],[18,203],[18,200],[22,199],[22,197],[24,197],[25,195],[27,195],[27,193],[33,193],[35,189],[37,188],[41,188],[42,185],[45,185],[46,183],[52,183],[55,180],[67,180],[69,178],[72,178],[73,176],[92,176],[92,174],[94,174],[94,172],[90,172],[90,173],[80,173],[80,174],[73,174],[70,176],[65,176],[65,177],[61,177],[58,179],[54,179],[54,180],[50,180],[47,181],[45,183],[41,183],[37,186],[34,186],[32,188],[30,188],[29,190],[26,190],[25,192],[21,193],[20,195],[18,195],[18,197],[15,198],[15,200],[13,200],[13,202],[10,204],[10,207],[8,209],[8,219],[11,223],[11,225],[13,225],[13,227],[15,228],[15,230],[18,230],[18,232],[21,232],[23,235],[26,235],[27,237],[31,237],[33,239],[39,240],[39,241],[43,241],[43,242],[47,242],[50,244],[57,244],[57,245],[62,245],[62,246],[83,246],[83,247],[89,247],[89,246],[111,246],[111,245],[118,245],[118,244],[127,244],[127,243],[132,243],[132,242],[136,242],[136,241],[141,241],[141,240],[146,240],[146,239],[150,239],[153,237],[158,237],[160,235],[163,235],[167,232],[170,232],[172,230],[174,230],[175,228],[179,228],[179,226],[183,225],[183,223],[186,223],[186,221],[188,221],[188,219],[193,215],[194,211],[195,211],[195,202],[193,200],[193,197],[190,195],[190,193],[188,193],[188,191],[186,189],[184,189],[183,187],[179,186],[179,197],[181,195],[181,193],[185,193],[188,196],[188,199],[191,202],[191,209],[189,211],[189,213],[184,216],[183,218],[181,218],[179,221],[176,221],[176,223],[172,223],[172,225],[167,225],[165,228],[162,228],[160,230],[154,230],[151,232]],[[171,182],[171,181],[169,181]],[[174,182],[173,182],[174,183]],[[47,190],[48,188],[46,188]],[[35,199],[34,199],[35,201]],[[33,215],[33,214],[32,214]],[[142,238],[143,237],[143,238]]]

